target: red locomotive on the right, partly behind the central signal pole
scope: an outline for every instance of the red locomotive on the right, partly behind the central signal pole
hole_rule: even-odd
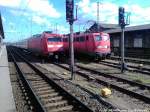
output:
[[[69,51],[69,35],[63,38],[64,50]],[[103,59],[110,55],[110,37],[107,33],[75,33],[74,51]]]

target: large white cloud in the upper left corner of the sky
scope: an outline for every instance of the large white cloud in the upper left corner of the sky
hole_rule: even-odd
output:
[[[16,16],[36,14],[51,18],[61,17],[61,14],[48,0],[0,0],[0,5],[10,7],[9,11]]]

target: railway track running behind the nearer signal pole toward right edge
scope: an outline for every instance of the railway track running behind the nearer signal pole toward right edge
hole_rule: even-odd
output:
[[[69,70],[66,64],[56,64]],[[150,104],[150,86],[76,65],[76,73]]]

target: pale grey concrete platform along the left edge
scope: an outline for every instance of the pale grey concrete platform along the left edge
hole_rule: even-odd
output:
[[[0,112],[15,112],[6,46],[0,47]]]

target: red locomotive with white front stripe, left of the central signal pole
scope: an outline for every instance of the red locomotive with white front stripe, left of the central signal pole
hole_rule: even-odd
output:
[[[28,49],[43,56],[59,55],[63,52],[62,35],[45,31],[28,39]]]

